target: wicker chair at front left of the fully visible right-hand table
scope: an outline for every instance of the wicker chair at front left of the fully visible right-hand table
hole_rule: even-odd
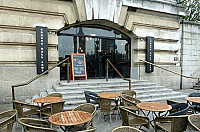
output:
[[[150,128],[150,120],[147,116],[135,114],[124,106],[120,106],[119,109],[122,118],[122,126],[144,126],[147,129]]]

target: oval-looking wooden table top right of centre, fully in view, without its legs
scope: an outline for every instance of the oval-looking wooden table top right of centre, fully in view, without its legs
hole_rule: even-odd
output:
[[[159,102],[142,102],[136,105],[139,109],[154,111],[154,112],[164,112],[171,110],[171,105],[159,103]]]

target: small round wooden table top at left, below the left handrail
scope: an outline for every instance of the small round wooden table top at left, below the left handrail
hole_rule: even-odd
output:
[[[53,103],[58,101],[62,101],[62,97],[41,97],[33,100],[36,103]]]

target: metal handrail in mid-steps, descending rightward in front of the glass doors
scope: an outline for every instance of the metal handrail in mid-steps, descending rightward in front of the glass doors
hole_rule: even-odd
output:
[[[107,59],[106,60],[106,81],[108,81],[108,63],[113,67],[113,69],[119,74],[119,76],[123,79],[129,82],[129,90],[131,90],[131,79],[125,78],[122,76],[122,74],[117,70],[117,68]]]

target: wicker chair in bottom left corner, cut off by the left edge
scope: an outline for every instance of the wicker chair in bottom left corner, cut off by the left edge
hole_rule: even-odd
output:
[[[0,129],[7,126],[7,131],[12,132],[17,110],[8,110],[0,113]]]

